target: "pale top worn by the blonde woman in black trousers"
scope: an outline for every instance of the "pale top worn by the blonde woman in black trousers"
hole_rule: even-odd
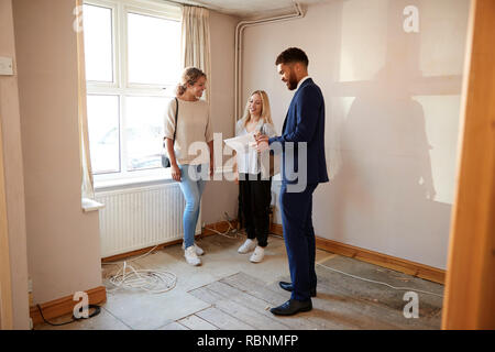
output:
[[[266,134],[268,138],[276,135],[275,127],[271,123],[265,123],[262,119],[257,122],[254,131],[261,131],[261,133]],[[235,136],[248,134],[245,130],[243,120],[239,120],[235,124]],[[266,162],[270,163],[270,151],[265,151],[260,155],[256,150],[248,148],[245,153],[238,153],[238,172],[241,174],[252,174],[256,175],[261,173],[261,163],[263,161],[263,168],[270,170],[270,164],[265,165]]]

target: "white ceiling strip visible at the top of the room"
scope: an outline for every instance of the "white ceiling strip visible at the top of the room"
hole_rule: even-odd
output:
[[[329,1],[331,0],[299,0],[297,2],[304,7]],[[173,2],[200,6],[242,19],[294,12],[294,0],[173,0]]]

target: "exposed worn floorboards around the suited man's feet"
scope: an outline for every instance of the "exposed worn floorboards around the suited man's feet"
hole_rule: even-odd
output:
[[[342,261],[352,260],[342,257]],[[189,294],[206,301],[210,307],[162,329],[397,330],[440,328],[441,298],[438,296],[421,294],[419,318],[407,319],[403,312],[404,306],[408,302],[403,299],[405,290],[384,292],[383,286],[377,288],[375,283],[361,285],[363,284],[361,282],[356,285],[356,278],[342,277],[342,274],[328,272],[321,265],[317,267],[317,271],[318,294],[316,298],[312,298],[314,309],[309,312],[294,317],[275,317],[270,312],[270,308],[287,300],[290,294],[278,288],[276,283],[266,285],[241,272],[190,290]],[[383,270],[384,276],[389,275],[387,272],[392,271]],[[405,280],[410,283],[415,279],[407,278],[407,275],[399,273],[396,275],[402,278],[398,279],[402,283]],[[348,282],[343,283],[342,280]],[[419,289],[417,283],[413,284]]]

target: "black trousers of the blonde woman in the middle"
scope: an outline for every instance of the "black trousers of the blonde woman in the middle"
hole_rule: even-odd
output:
[[[272,177],[261,179],[257,175],[239,175],[239,215],[248,232],[248,239],[257,239],[257,245],[268,244],[270,204],[272,202]]]

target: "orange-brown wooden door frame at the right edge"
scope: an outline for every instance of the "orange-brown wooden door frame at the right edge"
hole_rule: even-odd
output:
[[[472,0],[442,329],[495,329],[495,1]]]

